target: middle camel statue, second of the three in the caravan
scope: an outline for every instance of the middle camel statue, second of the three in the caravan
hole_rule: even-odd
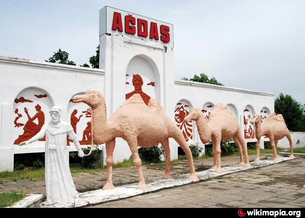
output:
[[[238,123],[228,106],[218,103],[214,110],[211,111],[208,122],[205,120],[203,113],[199,108],[192,108],[190,114],[185,117],[185,122],[190,120],[196,121],[198,133],[202,143],[207,143],[210,139],[213,143],[214,162],[212,168],[216,168],[215,172],[222,173],[220,162],[220,142],[233,138],[239,151],[239,165],[251,167],[245,140],[242,137]],[[241,146],[240,146],[241,145]],[[242,150],[245,153],[246,165],[243,162]]]

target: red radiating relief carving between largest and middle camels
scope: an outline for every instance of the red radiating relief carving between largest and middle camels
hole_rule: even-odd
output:
[[[178,103],[181,104],[181,103]],[[192,136],[192,121],[186,123],[184,122],[184,119],[186,116],[188,116],[189,112],[185,110],[183,106],[177,107],[175,110],[175,121],[177,127],[181,129],[182,134],[184,135],[186,141],[189,141],[193,138]]]

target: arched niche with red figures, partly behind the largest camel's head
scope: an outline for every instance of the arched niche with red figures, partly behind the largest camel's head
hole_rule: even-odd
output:
[[[83,95],[85,92],[80,92],[75,95]],[[68,118],[69,122],[77,135],[77,139],[81,145],[91,144],[91,117],[92,108],[83,102],[75,103],[72,101],[73,95],[68,103]],[[68,146],[73,143],[68,141]]]

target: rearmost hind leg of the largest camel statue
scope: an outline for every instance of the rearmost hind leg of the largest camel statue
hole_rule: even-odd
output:
[[[188,158],[188,162],[189,162],[189,166],[190,166],[190,179],[192,180],[197,180],[198,177],[195,173],[195,167],[194,167],[194,162],[193,162],[193,156],[192,156],[192,152],[190,147],[188,146],[185,138],[183,137],[183,135],[181,134],[180,129],[177,128],[177,132],[178,134],[175,134],[175,136],[173,137],[175,139],[175,141],[179,144],[179,146],[181,147],[181,149],[186,153],[187,158]]]

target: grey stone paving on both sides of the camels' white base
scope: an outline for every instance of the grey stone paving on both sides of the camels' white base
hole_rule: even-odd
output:
[[[261,159],[270,155],[261,155]],[[250,156],[254,161],[255,156]],[[222,166],[235,165],[238,157],[222,158]],[[212,159],[194,160],[196,171],[209,168]],[[96,207],[289,207],[305,205],[305,159],[298,158],[259,169],[248,170],[156,193],[108,202]],[[164,164],[143,167],[146,180],[161,178]],[[171,175],[189,172],[188,162],[172,163]],[[106,182],[106,170],[73,174],[79,192],[101,189]],[[135,167],[113,169],[115,186],[135,183],[138,180]],[[45,194],[44,179],[3,180],[0,191],[24,191]],[[178,200],[179,199],[179,200]],[[164,203],[165,202],[165,203]]]

